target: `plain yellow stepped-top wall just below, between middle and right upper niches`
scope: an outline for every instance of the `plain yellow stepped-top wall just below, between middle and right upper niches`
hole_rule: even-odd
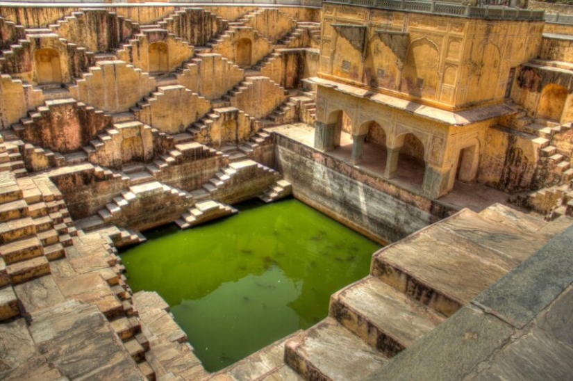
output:
[[[201,97],[219,99],[242,81],[244,70],[220,54],[197,54],[192,63],[176,74],[177,83],[197,92]]]

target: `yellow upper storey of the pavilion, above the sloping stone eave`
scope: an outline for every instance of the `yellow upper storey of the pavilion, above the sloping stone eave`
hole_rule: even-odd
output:
[[[538,56],[542,28],[325,4],[319,76],[441,108],[501,102],[510,68]]]

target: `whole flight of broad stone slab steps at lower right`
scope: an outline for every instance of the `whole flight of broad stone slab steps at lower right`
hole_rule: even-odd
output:
[[[388,245],[370,275],[332,295],[328,318],[285,343],[285,362],[305,380],[363,380],[572,221],[494,204]]]

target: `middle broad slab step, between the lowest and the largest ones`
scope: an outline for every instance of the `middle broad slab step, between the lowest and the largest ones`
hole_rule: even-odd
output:
[[[329,315],[387,357],[445,320],[375,277],[365,277],[332,295]]]

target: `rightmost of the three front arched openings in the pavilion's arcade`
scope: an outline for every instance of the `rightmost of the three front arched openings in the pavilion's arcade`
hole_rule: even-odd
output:
[[[399,149],[395,168],[395,178],[406,184],[422,186],[426,163],[424,161],[424,143],[413,133],[404,133],[396,138]]]

